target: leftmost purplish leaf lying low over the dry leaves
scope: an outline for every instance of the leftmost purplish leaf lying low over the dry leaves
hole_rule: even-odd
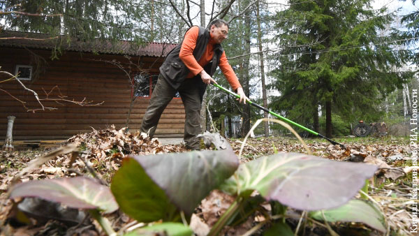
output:
[[[43,198],[78,209],[98,208],[105,213],[118,209],[110,189],[87,177],[42,179],[17,184],[10,198],[17,197]]]

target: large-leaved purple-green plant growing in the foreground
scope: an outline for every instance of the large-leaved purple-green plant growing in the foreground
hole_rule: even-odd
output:
[[[367,202],[351,200],[365,184],[365,179],[374,175],[376,166],[330,161],[295,153],[264,156],[239,165],[233,149],[226,145],[226,142],[222,142],[222,145],[216,144],[216,147],[224,148],[218,151],[124,158],[122,167],[115,173],[110,187],[117,205],[139,222],[163,221],[141,228],[130,235],[156,231],[164,231],[168,235],[191,235],[193,232],[187,227],[191,214],[201,200],[214,189],[221,189],[234,196],[235,201],[212,227],[209,235],[219,235],[225,226],[244,221],[265,201],[271,203],[272,212],[267,215],[266,221],[258,224],[258,227],[269,223],[272,227],[267,233],[271,235],[292,233],[291,227],[285,221],[288,217],[287,207],[302,210],[303,215],[308,215],[310,219],[359,221],[376,230],[385,231],[381,212]],[[60,184],[50,184],[54,181]],[[89,182],[80,183],[80,186],[84,186],[80,188],[77,186],[78,181],[72,181],[75,186],[69,185],[71,187],[62,189],[62,183],[68,182],[68,179],[57,181],[49,179],[25,183],[22,186],[26,189],[16,187],[11,197],[35,196],[68,205],[74,197],[83,196],[85,202],[96,206],[94,209],[103,209],[102,205],[92,203],[98,200],[97,195],[89,196],[89,191],[73,194],[74,189],[96,189],[93,184],[90,186]],[[48,193],[31,191],[41,188],[43,184],[54,186],[63,198],[51,198]],[[101,189],[103,188],[108,189],[101,186]],[[108,192],[105,193],[106,196]],[[84,209],[90,206],[73,207]],[[97,216],[100,214],[96,214]],[[102,226],[108,227],[109,224],[103,223]],[[112,229],[105,230],[108,234],[114,233]]]

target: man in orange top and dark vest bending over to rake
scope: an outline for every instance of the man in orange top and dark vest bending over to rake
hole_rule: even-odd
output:
[[[147,112],[142,119],[141,131],[153,137],[161,113],[173,96],[179,91],[184,103],[186,120],[184,141],[186,148],[198,150],[201,133],[200,108],[207,84],[215,83],[211,77],[219,66],[226,76],[228,83],[240,98],[240,102],[246,103],[244,95],[233,68],[228,64],[226,53],[221,42],[227,38],[228,24],[224,20],[214,20],[210,26],[191,27],[179,43],[169,52],[163,65],[160,67],[160,75],[156,87],[153,90]]]

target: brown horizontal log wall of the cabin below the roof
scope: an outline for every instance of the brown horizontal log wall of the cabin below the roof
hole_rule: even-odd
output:
[[[91,104],[102,105],[80,106],[65,101],[43,100],[41,109],[33,94],[25,91],[17,81],[0,83],[0,140],[6,138],[7,117],[16,117],[13,126],[14,140],[47,140],[70,138],[77,133],[86,133],[95,129],[108,128],[112,124],[122,128],[131,103],[131,84],[124,71],[105,61],[121,61],[128,64],[128,59],[118,55],[65,52],[59,59],[51,60],[50,50],[25,50],[20,48],[0,48],[0,71],[15,73],[16,65],[34,65],[33,53],[43,57],[44,71],[38,78],[22,81],[33,89],[41,99],[58,98],[62,95],[68,100],[91,101]],[[98,61],[102,60],[102,61]],[[150,68],[149,73],[157,74],[163,59],[152,57],[131,58],[142,68]],[[0,75],[0,81],[8,77]],[[57,86],[57,87],[56,87]],[[55,88],[55,89],[54,89]],[[53,90],[52,90],[53,89]],[[52,90],[52,91],[51,91]],[[6,92],[5,92],[6,91]],[[46,93],[50,94],[46,96]],[[9,94],[8,94],[9,93]],[[19,101],[25,104],[22,105]],[[149,98],[137,98],[131,110],[129,130],[138,131],[142,117],[149,104]],[[161,117],[156,136],[182,137],[184,133],[184,106],[179,98],[174,98]]]

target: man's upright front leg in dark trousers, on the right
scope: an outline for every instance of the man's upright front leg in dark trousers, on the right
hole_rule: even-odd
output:
[[[200,140],[196,135],[201,133],[200,128],[200,90],[193,78],[186,79],[179,87],[179,95],[184,103],[186,120],[184,141],[186,147],[190,149],[199,149]]]

